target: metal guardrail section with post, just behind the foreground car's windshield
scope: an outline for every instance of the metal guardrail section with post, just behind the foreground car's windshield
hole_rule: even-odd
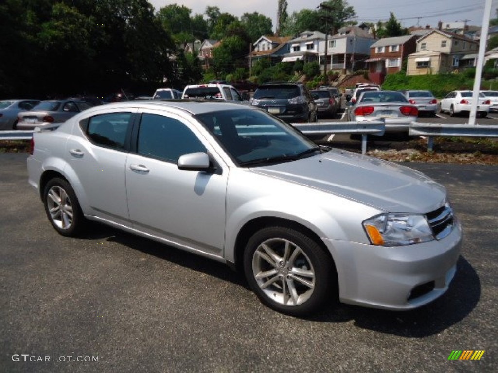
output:
[[[305,135],[359,133],[362,135],[362,154],[367,152],[367,136],[382,136],[385,132],[385,122],[320,122],[293,123],[293,127]]]

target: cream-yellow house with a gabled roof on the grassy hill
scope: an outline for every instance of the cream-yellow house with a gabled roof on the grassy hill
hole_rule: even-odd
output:
[[[475,67],[479,43],[460,34],[432,30],[417,40],[417,52],[408,56],[406,74],[425,75]]]

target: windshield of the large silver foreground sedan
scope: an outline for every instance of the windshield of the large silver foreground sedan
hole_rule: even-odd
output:
[[[289,162],[321,151],[299,131],[264,111],[224,110],[195,117],[242,167]]]

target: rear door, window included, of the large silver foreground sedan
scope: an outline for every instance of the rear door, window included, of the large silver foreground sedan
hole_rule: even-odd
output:
[[[107,112],[80,122],[66,143],[70,168],[79,180],[89,213],[127,224],[125,167],[132,112]],[[75,179],[76,180],[76,179]]]

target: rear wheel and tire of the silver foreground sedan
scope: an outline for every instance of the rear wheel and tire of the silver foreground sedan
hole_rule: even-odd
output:
[[[71,185],[64,179],[50,180],[43,191],[43,204],[50,224],[63,236],[78,235],[86,221]]]

